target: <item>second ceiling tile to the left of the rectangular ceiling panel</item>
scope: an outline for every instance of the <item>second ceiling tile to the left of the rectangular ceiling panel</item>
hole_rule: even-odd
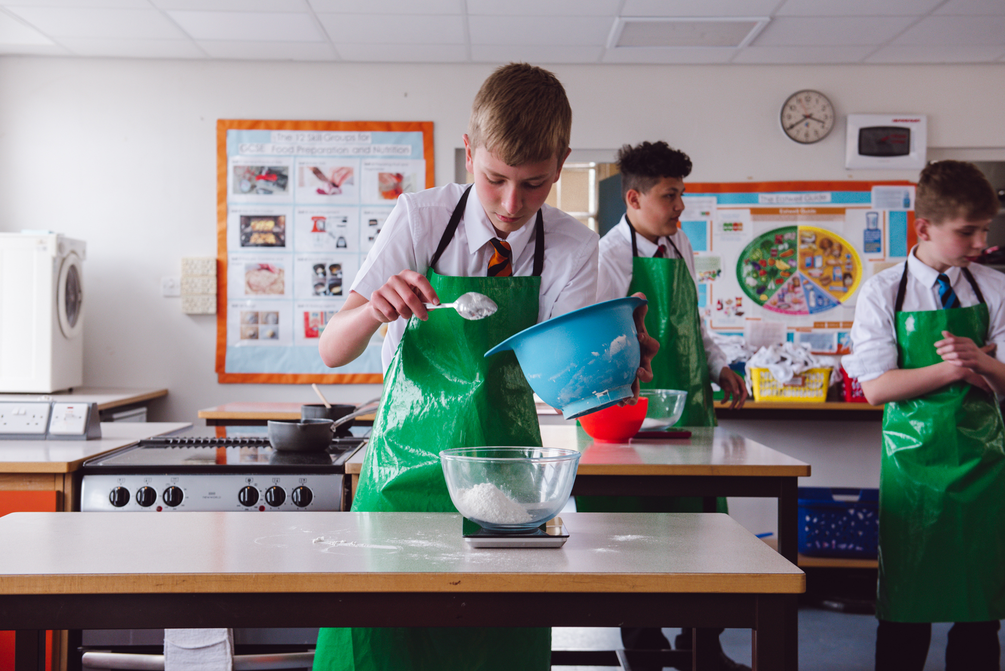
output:
[[[319,14],[337,44],[463,44],[461,16]]]

